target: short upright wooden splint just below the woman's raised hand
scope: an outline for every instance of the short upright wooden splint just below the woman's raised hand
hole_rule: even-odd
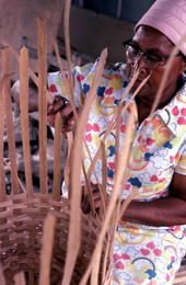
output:
[[[54,201],[60,201],[61,196],[61,116],[58,113],[55,119]]]

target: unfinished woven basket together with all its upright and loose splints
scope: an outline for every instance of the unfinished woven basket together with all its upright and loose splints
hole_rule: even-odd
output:
[[[66,53],[69,72],[71,72],[71,55],[69,39],[69,12],[70,1],[66,1],[63,13]],[[46,23],[45,19],[38,19],[38,77],[28,67],[28,54],[23,47],[18,55],[12,47],[3,42],[0,50],[1,57],[1,80],[0,80],[0,141],[3,141],[4,133],[8,136],[10,171],[11,171],[11,194],[5,192],[5,172],[3,158],[3,144],[0,144],[0,284],[1,285],[53,285],[53,284],[111,284],[112,275],[112,251],[114,246],[115,230],[121,213],[135,197],[137,192],[121,203],[121,185],[125,184],[125,168],[130,152],[133,112],[129,116],[126,140],[121,151],[116,149],[116,173],[113,194],[109,204],[105,207],[106,200],[106,153],[105,140],[112,129],[116,129],[116,148],[119,139],[120,116],[130,102],[123,105],[123,102],[130,91],[139,71],[136,71],[133,79],[128,86],[121,101],[119,102],[112,121],[107,126],[100,148],[92,159],[88,173],[84,173],[84,191],[89,194],[91,213],[84,215],[81,212],[81,171],[83,168],[82,149],[85,145],[84,129],[88,121],[91,104],[95,98],[102,71],[106,61],[107,50],[103,50],[98,66],[93,79],[92,88],[86,96],[81,116],[77,119],[75,134],[68,136],[68,158],[65,171],[66,184],[68,184],[69,198],[61,196],[60,159],[61,159],[61,117],[56,115],[55,122],[55,147],[54,147],[54,185],[53,193],[47,190],[47,101],[51,104],[54,98],[47,91],[46,83]],[[63,75],[57,43],[55,43],[58,65]],[[13,129],[13,115],[10,94],[10,58],[14,57],[19,64],[20,75],[20,109],[21,127],[24,153],[24,168],[26,187],[23,187],[18,175],[15,138]],[[154,102],[152,112],[159,102],[163,84],[168,71],[162,80]],[[32,166],[30,151],[28,132],[28,78],[38,88],[38,115],[39,115],[39,193],[34,193],[32,182]],[[65,76],[66,79],[66,76]],[[148,78],[140,84],[138,90],[146,83]],[[65,80],[67,81],[67,80]],[[78,117],[73,101],[73,82],[70,78],[66,82],[69,90],[74,117]],[[138,93],[138,90],[133,93]],[[146,132],[146,130],[144,130]],[[133,156],[138,156],[138,150]],[[90,187],[90,173],[94,171],[97,157],[102,156],[103,161],[103,185],[101,186],[102,206],[98,214],[95,210],[92,192]],[[140,191],[140,190],[138,190]],[[109,230],[108,230],[109,229]]]

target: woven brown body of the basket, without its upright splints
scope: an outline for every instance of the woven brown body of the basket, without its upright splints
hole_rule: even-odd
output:
[[[57,285],[61,284],[67,253],[69,201],[61,197],[54,202],[51,195],[44,194],[34,194],[33,198],[18,194],[0,203],[0,256],[8,285],[14,284],[13,276],[20,271],[25,273],[27,284],[38,284],[40,238],[47,214],[57,217],[50,267],[50,284]],[[79,284],[85,272],[100,229],[98,218],[82,214],[82,242],[70,284]]]

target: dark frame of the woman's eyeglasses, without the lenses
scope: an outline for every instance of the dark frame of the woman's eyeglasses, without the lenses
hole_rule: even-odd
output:
[[[138,52],[138,55],[136,57],[133,57],[133,61],[135,61],[135,58],[137,58],[137,57],[140,58],[142,56],[143,57],[143,61],[146,62],[146,60],[149,59],[147,56],[155,56],[156,57],[156,61],[153,61],[153,60],[149,59],[150,62],[154,62],[155,64],[155,66],[152,69],[154,69],[159,65],[159,62],[162,62],[163,60],[170,59],[172,57],[178,57],[178,56],[183,56],[184,57],[184,55],[181,52],[177,55],[175,55],[175,56],[158,56],[158,55],[151,54],[151,53],[142,53],[140,49],[136,48],[132,45],[132,38],[130,38],[130,39],[128,39],[126,42],[123,42],[123,46],[125,48],[127,48],[127,46],[128,47],[132,47],[133,49],[136,49]],[[127,54],[127,50],[126,50],[126,54]]]

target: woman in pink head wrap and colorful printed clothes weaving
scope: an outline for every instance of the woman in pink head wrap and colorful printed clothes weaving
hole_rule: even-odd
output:
[[[186,33],[185,26],[185,0],[156,0],[136,25],[133,37],[124,43],[127,65],[105,67],[90,112],[85,140],[93,157],[135,68],[138,67],[140,73],[131,91],[150,75],[132,101],[137,116],[123,198],[133,189],[141,191],[130,203],[117,227],[113,284],[172,284],[186,252],[186,42],[179,46],[179,52],[173,58],[159,105],[150,115],[167,59]],[[83,105],[96,65],[97,62],[73,70],[77,107]],[[51,94],[68,98],[59,73],[48,75],[48,83]],[[128,94],[126,100],[130,96]],[[63,99],[58,100],[50,106],[48,117],[53,121],[56,111],[61,109],[61,116],[68,117],[63,132],[69,132],[74,127],[74,119],[71,105],[62,109],[63,102]],[[120,122],[120,141],[125,140],[129,113],[128,109]],[[141,139],[142,135],[144,137]],[[115,173],[115,130],[105,145],[107,192],[111,194]],[[84,156],[84,164],[89,168],[89,155]],[[102,183],[101,159],[96,162],[95,172],[98,183]],[[95,207],[98,208],[100,193],[94,174],[91,182]],[[86,197],[82,208],[89,212]]]

